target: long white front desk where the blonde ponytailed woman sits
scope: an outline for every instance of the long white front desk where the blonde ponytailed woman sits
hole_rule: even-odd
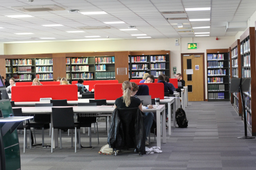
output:
[[[59,106],[63,107],[73,107],[74,113],[113,113],[113,106]],[[43,114],[43,113],[52,113],[52,107],[21,107],[23,114]],[[154,109],[143,109],[144,112],[156,112],[157,115],[157,146],[161,148],[161,121],[160,115],[162,113],[162,122],[165,122],[165,105],[154,105]],[[52,120],[51,120],[52,123]],[[163,143],[166,143],[166,129],[165,126],[162,126],[163,131]],[[53,148],[58,147],[58,133],[55,130],[54,135],[55,142],[53,143]]]

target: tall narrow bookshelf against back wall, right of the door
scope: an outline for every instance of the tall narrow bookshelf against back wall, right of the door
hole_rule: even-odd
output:
[[[207,53],[207,100],[229,101],[229,49],[211,49]]]

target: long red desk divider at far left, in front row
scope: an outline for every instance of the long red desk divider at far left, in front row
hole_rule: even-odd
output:
[[[40,98],[77,101],[76,85],[13,86],[12,101],[39,102]]]

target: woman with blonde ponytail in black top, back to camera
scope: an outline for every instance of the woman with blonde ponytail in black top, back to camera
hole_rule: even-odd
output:
[[[132,83],[129,81],[124,81],[122,84],[122,90],[123,90],[123,95],[120,98],[116,99],[115,108],[139,108],[142,111],[142,105],[141,105],[140,99],[132,96],[132,93],[133,93]],[[152,116],[151,118],[152,118],[152,122],[153,122],[153,115],[151,115],[151,116]],[[150,123],[148,121],[149,116],[146,116],[146,113],[145,113],[143,115],[143,117],[144,117],[145,133],[147,136],[148,132],[150,131],[150,128],[151,128],[151,126],[149,127],[149,129],[148,129],[148,127],[146,127],[146,124]],[[152,122],[151,122],[151,124],[152,124]],[[148,145],[148,142],[146,141],[145,144]]]

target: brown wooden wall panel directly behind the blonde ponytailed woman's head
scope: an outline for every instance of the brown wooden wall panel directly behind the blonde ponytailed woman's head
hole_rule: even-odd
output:
[[[118,83],[129,81],[129,64],[128,64],[129,52],[115,52],[115,75]],[[117,68],[126,68],[127,75],[117,75]]]

